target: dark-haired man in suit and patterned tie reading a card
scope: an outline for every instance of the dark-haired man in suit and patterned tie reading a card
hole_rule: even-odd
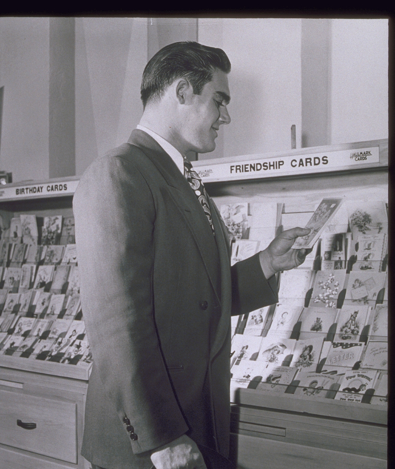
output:
[[[82,455],[106,469],[205,468],[227,456],[233,314],[277,301],[300,265],[295,228],[230,266],[228,233],[184,157],[228,124],[230,62],[178,42],[147,64],[140,125],[96,159],[74,196],[82,311],[93,368]]]

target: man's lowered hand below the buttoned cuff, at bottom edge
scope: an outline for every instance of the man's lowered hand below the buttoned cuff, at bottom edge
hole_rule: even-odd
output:
[[[207,469],[197,444],[187,435],[160,446],[151,461],[156,469]]]

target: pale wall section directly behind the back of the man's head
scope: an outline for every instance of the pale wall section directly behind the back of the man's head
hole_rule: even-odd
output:
[[[143,107],[146,18],[76,19],[76,173],[124,143]]]

